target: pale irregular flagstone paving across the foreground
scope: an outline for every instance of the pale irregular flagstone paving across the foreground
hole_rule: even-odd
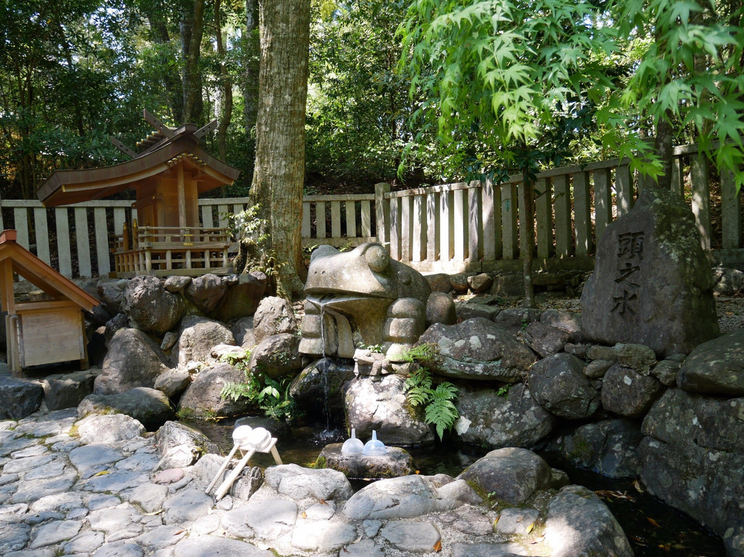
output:
[[[341,472],[283,465],[215,502],[205,486],[221,463],[208,453],[174,468],[155,433],[121,414],[0,421],[0,556],[551,555],[548,532],[530,535],[539,512],[500,517],[465,480],[413,475],[397,478],[403,491],[377,483],[357,497]]]

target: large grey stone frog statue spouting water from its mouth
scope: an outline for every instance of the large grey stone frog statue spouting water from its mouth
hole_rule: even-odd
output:
[[[350,252],[315,249],[305,293],[301,353],[351,358],[357,347],[379,346],[395,361],[425,330],[432,291],[421,273],[391,259],[381,244],[367,243]],[[454,314],[441,307],[430,307],[429,322]]]

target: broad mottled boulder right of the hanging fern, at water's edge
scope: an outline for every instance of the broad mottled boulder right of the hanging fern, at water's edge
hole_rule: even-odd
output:
[[[551,433],[556,417],[541,407],[525,384],[501,391],[462,389],[455,403],[460,439],[490,448],[533,448]]]

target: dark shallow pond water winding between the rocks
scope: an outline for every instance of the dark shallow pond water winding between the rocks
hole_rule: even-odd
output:
[[[231,423],[186,423],[205,433],[225,453],[232,448]],[[280,437],[276,446],[285,464],[307,466],[315,462],[324,445],[343,442],[345,438],[343,431],[328,430],[325,424],[319,424],[293,429],[292,435]],[[454,443],[437,443],[433,448],[407,450],[413,456],[420,474],[443,473],[451,476],[457,476],[488,452],[486,449]],[[593,489],[602,497],[628,536],[635,557],[725,557],[720,538],[655,497],[639,492],[632,480],[613,480],[557,462],[550,455],[543,456],[552,466],[564,470],[571,483]],[[257,453],[251,459],[251,465],[266,468],[274,465],[274,459],[270,454]],[[354,482],[353,485],[356,488],[363,483]]]

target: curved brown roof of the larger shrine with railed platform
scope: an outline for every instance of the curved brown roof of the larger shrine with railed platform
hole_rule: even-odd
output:
[[[199,193],[231,185],[237,179],[240,170],[211,156],[199,146],[196,126],[185,124],[167,131],[168,136],[149,136],[156,141],[151,141],[147,150],[118,165],[54,171],[36,190],[36,195],[47,207],[97,200],[127,188],[136,189],[181,163],[192,171]]]

